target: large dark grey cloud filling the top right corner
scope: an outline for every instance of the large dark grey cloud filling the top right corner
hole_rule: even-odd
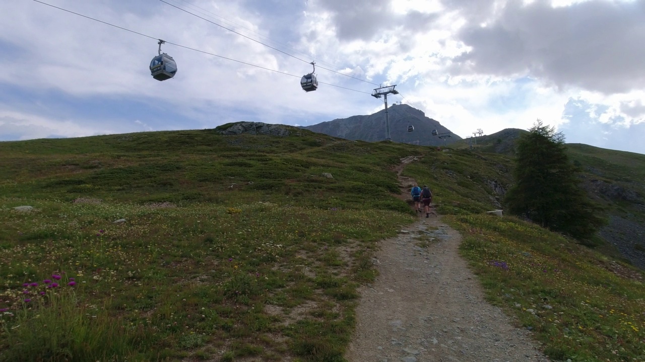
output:
[[[461,3],[448,1],[447,3]],[[486,1],[484,1],[486,3]],[[490,3],[490,1],[488,2]],[[468,21],[457,35],[471,47],[454,70],[504,77],[530,75],[558,87],[627,93],[645,82],[645,0],[509,0],[489,21]],[[470,15],[470,19],[479,19]]]

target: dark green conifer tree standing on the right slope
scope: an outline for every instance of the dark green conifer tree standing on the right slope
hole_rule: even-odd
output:
[[[577,167],[566,155],[564,135],[537,120],[516,145],[515,184],[504,199],[508,211],[553,231],[589,240],[603,220],[581,187]]]

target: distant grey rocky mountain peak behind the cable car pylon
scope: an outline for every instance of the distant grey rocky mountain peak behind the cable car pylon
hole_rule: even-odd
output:
[[[394,142],[420,146],[442,146],[444,139],[433,136],[433,129],[436,129],[438,133],[452,133],[450,129],[442,126],[437,120],[426,117],[425,113],[407,104],[390,106],[388,113],[390,136]],[[410,125],[414,127],[412,132],[408,132],[408,126]],[[386,138],[385,110],[378,111],[372,115],[356,115],[302,128],[348,140],[381,141]],[[452,133],[451,137],[445,138],[445,143],[452,144],[461,139],[461,137]]]

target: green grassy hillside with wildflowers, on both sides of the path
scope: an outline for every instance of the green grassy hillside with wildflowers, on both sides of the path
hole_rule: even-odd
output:
[[[437,209],[468,235],[464,256],[491,301],[504,304],[500,285],[510,285],[505,293],[512,288],[510,300],[521,305],[546,290],[554,312],[571,311],[563,305],[577,301],[551,291],[553,280],[537,269],[517,271],[524,261],[514,264],[508,255],[519,249],[540,263],[595,265],[588,278],[591,267],[561,266],[571,273],[559,280],[576,274],[578,295],[611,300],[615,312],[629,315],[600,321],[615,330],[606,332],[613,342],[603,342],[619,356],[639,356],[639,272],[621,266],[633,273],[623,280],[604,256],[571,240],[518,220],[476,216],[498,207],[510,183],[507,156],[292,131],[0,142],[0,361],[342,361],[356,289],[375,278],[378,240],[415,220],[395,197],[392,171],[410,155],[421,160],[403,174],[429,184]],[[20,205],[34,209],[12,209]],[[544,246],[551,244],[566,245],[573,256],[562,259],[560,249]],[[512,272],[498,278],[493,257]],[[566,323],[579,323],[586,308],[578,306]],[[639,330],[623,328],[627,321]],[[542,333],[558,325],[540,323],[531,324],[537,338],[555,343],[554,356],[570,356],[562,338]],[[580,348],[595,342],[584,326],[575,339]],[[597,359],[579,360],[615,356],[598,348]]]

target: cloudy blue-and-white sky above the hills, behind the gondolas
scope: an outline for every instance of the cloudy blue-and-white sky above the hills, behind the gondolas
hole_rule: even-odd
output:
[[[382,110],[371,93],[395,84],[389,104],[464,138],[540,119],[645,154],[645,0],[42,1],[127,30],[0,1],[0,141],[308,126]]]

